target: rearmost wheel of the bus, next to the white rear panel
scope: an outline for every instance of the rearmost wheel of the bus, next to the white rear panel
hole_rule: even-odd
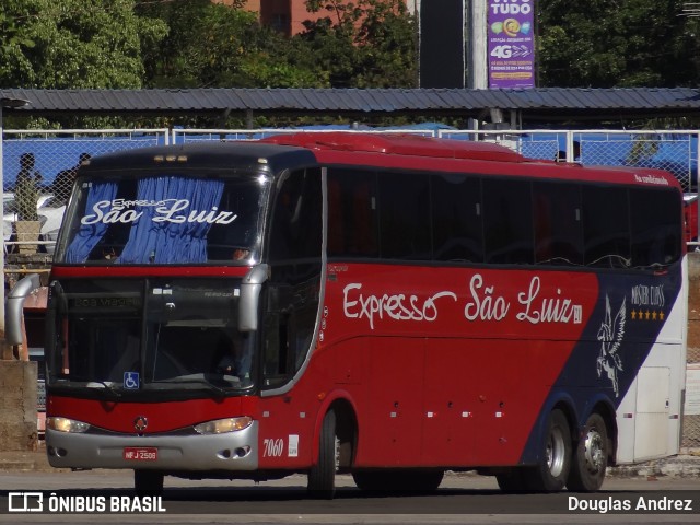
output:
[[[573,454],[567,488],[583,492],[598,490],[603,486],[607,466],[607,427],[600,415],[592,413],[586,421],[583,436]]]

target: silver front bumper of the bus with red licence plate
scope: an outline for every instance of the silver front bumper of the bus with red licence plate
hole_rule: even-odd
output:
[[[162,471],[256,470],[258,423],[221,434],[132,435],[46,430],[48,463],[57,468]]]

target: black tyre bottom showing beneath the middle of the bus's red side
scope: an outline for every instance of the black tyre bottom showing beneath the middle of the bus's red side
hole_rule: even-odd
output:
[[[444,470],[355,470],[352,479],[365,492],[434,492]]]

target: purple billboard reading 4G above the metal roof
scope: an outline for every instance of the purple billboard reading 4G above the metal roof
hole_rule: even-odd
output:
[[[489,88],[535,88],[535,0],[488,0]]]

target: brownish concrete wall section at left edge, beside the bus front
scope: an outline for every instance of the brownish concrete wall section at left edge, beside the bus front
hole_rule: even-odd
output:
[[[37,364],[0,361],[0,451],[34,451]]]

